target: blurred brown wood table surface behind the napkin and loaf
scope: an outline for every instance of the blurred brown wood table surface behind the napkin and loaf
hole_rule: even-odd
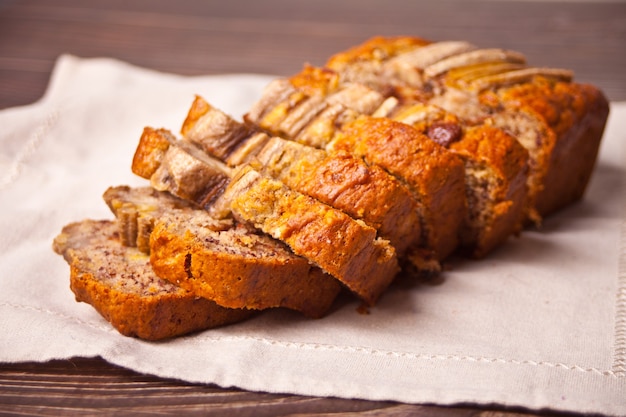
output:
[[[61,53],[178,74],[288,75],[371,36],[467,39],[576,71],[626,99],[626,3],[22,0],[0,6],[0,108],[45,89]],[[19,84],[17,84],[19,83]],[[16,87],[19,85],[19,88]]]

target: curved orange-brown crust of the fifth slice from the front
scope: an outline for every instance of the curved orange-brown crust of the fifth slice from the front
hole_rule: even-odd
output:
[[[458,156],[411,126],[368,116],[344,125],[330,148],[362,156],[405,181],[421,203],[426,247],[438,259],[456,249],[467,210]]]

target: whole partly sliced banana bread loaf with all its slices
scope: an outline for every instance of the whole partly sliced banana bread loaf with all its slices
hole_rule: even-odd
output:
[[[243,122],[197,97],[180,138],[146,128],[132,169],[151,189],[110,188],[116,219],[54,248],[77,300],[144,339],[321,317],[342,289],[373,306],[400,272],[487,256],[580,199],[607,117],[519,53],[374,38],[271,83]]]

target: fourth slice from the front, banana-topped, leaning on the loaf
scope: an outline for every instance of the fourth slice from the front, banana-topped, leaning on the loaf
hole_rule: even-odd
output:
[[[221,126],[228,125],[236,131],[242,127],[201,97],[194,100],[182,131],[199,132],[195,120],[205,117],[219,118],[223,122],[214,128],[206,124],[202,135],[189,139],[202,144],[210,155],[227,163],[254,161],[264,174],[374,227],[380,237],[391,242],[399,257],[421,244],[417,203],[407,187],[381,167],[368,165],[362,158],[346,152],[329,154],[322,149],[256,132],[247,137],[238,136],[237,147],[224,146],[232,142],[221,138],[232,135]],[[433,269],[438,267],[429,264],[428,271],[424,272],[432,273]]]

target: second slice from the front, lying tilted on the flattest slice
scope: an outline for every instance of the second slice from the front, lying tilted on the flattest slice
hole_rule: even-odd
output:
[[[232,219],[215,219],[166,192],[110,187],[104,200],[123,232],[140,231],[138,246],[147,235],[159,277],[223,307],[284,307],[318,318],[340,291],[337,280],[283,243]]]

